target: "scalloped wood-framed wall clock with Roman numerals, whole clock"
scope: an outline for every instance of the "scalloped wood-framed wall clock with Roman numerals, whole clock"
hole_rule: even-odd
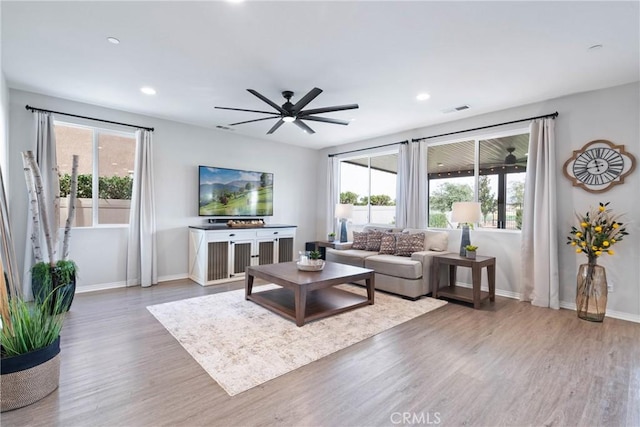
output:
[[[636,159],[610,141],[598,139],[587,143],[564,163],[564,176],[591,193],[602,193],[624,179],[636,167]]]

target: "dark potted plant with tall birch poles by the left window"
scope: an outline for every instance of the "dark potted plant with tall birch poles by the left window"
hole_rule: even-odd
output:
[[[25,179],[29,192],[29,205],[31,207],[32,233],[31,243],[35,264],[31,268],[31,286],[33,296],[39,304],[48,305],[50,310],[67,311],[73,301],[76,288],[76,264],[69,260],[69,238],[71,236],[71,224],[76,210],[78,189],[78,156],[74,155],[71,171],[71,190],[69,192],[69,210],[65,223],[64,238],[62,244],[62,258],[56,260],[58,243],[58,212],[60,209],[60,188],[53,185],[53,209],[48,205],[47,194],[44,191],[40,168],[35,161],[33,152],[22,153]],[[53,218],[50,218],[53,212]],[[44,234],[43,245],[40,226]],[[45,251],[43,251],[43,247]],[[45,256],[45,254],[47,256]],[[49,297],[50,296],[50,297]],[[61,301],[57,304],[58,300]]]

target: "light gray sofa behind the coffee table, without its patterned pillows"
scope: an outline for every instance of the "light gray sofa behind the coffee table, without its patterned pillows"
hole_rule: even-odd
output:
[[[431,292],[431,266],[433,256],[447,253],[449,234],[446,231],[426,229],[392,229],[366,226],[363,231],[382,231],[385,233],[415,234],[424,233],[424,250],[411,253],[411,256],[380,254],[376,251],[352,249],[342,244],[338,249],[327,249],[326,260],[370,268],[375,271],[375,287],[387,292],[417,300]],[[440,283],[448,283],[447,269],[440,272]]]

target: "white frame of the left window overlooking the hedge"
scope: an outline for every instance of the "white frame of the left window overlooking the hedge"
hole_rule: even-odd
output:
[[[53,125],[54,127],[57,125],[62,125],[62,126],[67,126],[67,127],[74,127],[74,128],[80,128],[80,129],[88,129],[91,130],[91,150],[92,150],[92,157],[91,157],[91,225],[90,226],[77,226],[74,225],[71,228],[72,229],[82,229],[82,230],[87,230],[87,229],[92,229],[92,228],[100,228],[100,229],[105,229],[105,228],[128,228],[130,224],[101,224],[99,222],[99,201],[100,201],[100,197],[99,197],[99,183],[100,183],[100,149],[99,149],[99,141],[100,141],[100,135],[113,135],[113,136],[118,136],[118,137],[125,137],[125,138],[131,138],[134,141],[134,144],[137,144],[137,140],[136,140],[136,133],[134,132],[130,132],[130,131],[124,131],[124,130],[118,130],[118,129],[110,129],[110,128],[106,128],[106,127],[99,127],[99,126],[95,126],[95,125],[90,125],[90,124],[84,124],[84,123],[76,123],[73,121],[67,121],[67,120],[59,120],[59,119],[54,119],[53,120]],[[58,140],[56,140],[56,150],[58,147]],[[134,151],[135,153],[135,151]],[[57,157],[57,156],[56,156]],[[57,160],[59,163],[59,160]],[[134,168],[135,168],[135,159],[134,161]],[[134,173],[135,174],[135,173]],[[60,226],[59,228],[64,228],[63,226]]]

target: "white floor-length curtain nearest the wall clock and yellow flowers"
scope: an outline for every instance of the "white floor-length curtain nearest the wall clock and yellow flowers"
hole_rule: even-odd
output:
[[[554,120],[530,125],[522,218],[522,296],[540,307],[560,308]]]

